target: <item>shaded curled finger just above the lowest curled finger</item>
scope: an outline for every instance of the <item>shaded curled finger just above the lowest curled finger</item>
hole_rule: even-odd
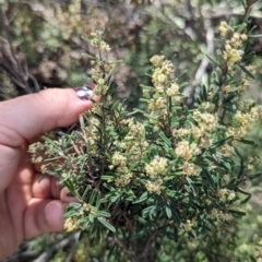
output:
[[[69,196],[69,189],[62,188],[58,179],[52,176],[36,174],[32,186],[33,198],[53,199],[63,202],[78,202],[75,198]]]

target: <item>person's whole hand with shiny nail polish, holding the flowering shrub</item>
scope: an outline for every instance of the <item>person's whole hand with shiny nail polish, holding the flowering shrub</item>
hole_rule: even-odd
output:
[[[31,141],[57,127],[78,121],[92,107],[86,91],[46,90],[0,103],[0,260],[25,238],[63,228],[67,189],[29,163]],[[82,93],[82,94],[81,94]]]

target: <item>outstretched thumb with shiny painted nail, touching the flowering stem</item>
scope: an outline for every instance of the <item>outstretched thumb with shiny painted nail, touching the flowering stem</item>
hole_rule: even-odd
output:
[[[58,88],[3,102],[0,104],[0,144],[21,146],[40,133],[72,124],[92,106],[91,100],[80,99],[73,90]]]

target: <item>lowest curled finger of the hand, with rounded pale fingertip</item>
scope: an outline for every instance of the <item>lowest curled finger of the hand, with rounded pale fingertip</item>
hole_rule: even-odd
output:
[[[62,230],[63,213],[62,201],[32,199],[24,216],[25,238]]]

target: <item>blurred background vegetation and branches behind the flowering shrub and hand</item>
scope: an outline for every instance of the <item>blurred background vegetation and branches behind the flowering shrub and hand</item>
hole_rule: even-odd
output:
[[[204,53],[216,52],[215,37],[221,21],[238,20],[240,0],[0,0],[0,97],[1,100],[46,87],[86,83],[91,63],[82,52],[93,53],[82,39],[104,31],[111,46],[111,60],[122,60],[115,71],[117,96],[129,108],[140,107],[141,84],[150,84],[146,72],[153,55],[165,55],[176,64],[175,74],[188,81],[184,92],[193,95],[213,64]],[[255,33],[262,33],[262,2],[251,13]],[[253,40],[255,82],[246,96],[261,103],[262,38]],[[254,157],[254,172],[261,171],[261,123],[250,133],[255,146],[242,150]],[[262,180],[243,187],[252,198],[241,206],[243,218],[222,224],[206,236],[181,238],[175,243],[155,243],[151,261],[261,261]],[[5,261],[128,261],[110,238],[84,234],[49,234],[24,242]]]

